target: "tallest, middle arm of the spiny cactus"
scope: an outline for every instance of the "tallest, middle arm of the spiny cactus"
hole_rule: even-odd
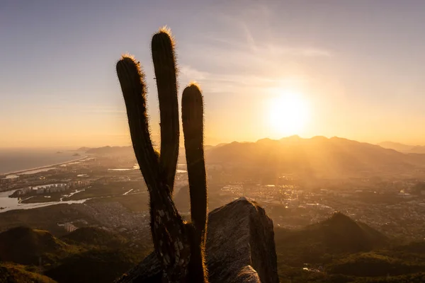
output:
[[[162,28],[152,37],[152,59],[157,79],[161,121],[159,163],[171,193],[179,157],[179,102],[177,98],[176,56],[169,30]]]

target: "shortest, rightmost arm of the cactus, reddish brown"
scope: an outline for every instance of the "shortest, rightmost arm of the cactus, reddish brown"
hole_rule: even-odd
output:
[[[191,195],[191,217],[199,232],[207,223],[207,183],[203,151],[203,97],[196,84],[183,91],[181,98],[184,146]]]

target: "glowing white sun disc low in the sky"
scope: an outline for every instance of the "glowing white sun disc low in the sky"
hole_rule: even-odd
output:
[[[309,114],[307,100],[300,93],[281,91],[268,105],[268,122],[280,137],[300,134]]]

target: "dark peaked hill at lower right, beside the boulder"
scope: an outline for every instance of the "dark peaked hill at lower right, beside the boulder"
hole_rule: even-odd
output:
[[[275,241],[280,282],[422,282],[424,278],[425,243],[394,245],[382,233],[340,213],[298,231],[275,228]]]

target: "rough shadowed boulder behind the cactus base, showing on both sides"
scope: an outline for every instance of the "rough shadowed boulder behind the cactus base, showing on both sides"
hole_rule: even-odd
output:
[[[241,197],[208,215],[210,283],[279,282],[273,221],[255,202]],[[154,253],[115,283],[162,282]]]

